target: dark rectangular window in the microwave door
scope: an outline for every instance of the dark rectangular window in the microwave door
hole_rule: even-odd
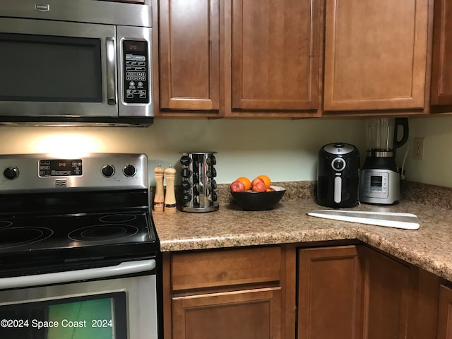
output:
[[[0,100],[102,102],[101,41],[0,33]]]

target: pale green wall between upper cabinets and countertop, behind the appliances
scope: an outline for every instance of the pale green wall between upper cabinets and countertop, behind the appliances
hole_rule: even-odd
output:
[[[323,144],[352,143],[365,157],[364,119],[155,119],[148,128],[0,127],[0,153],[71,151],[146,153],[153,167],[179,167],[182,151],[216,151],[220,184],[267,174],[274,182],[316,179]],[[424,137],[424,160],[412,160],[412,138]],[[452,117],[410,119],[407,179],[452,187]],[[407,145],[398,151],[401,165]],[[179,178],[177,179],[179,180]]]

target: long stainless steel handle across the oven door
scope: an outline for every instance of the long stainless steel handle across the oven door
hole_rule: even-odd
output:
[[[59,283],[71,283],[79,280],[97,278],[111,278],[118,275],[141,273],[153,270],[156,266],[154,259],[141,261],[127,261],[117,266],[100,268],[87,268],[84,270],[69,270],[57,273],[45,273],[37,275],[24,275],[0,279],[0,290],[18,287],[32,287],[41,285],[54,285]]]

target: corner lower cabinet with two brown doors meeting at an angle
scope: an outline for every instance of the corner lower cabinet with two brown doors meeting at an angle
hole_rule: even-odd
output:
[[[298,262],[297,339],[435,339],[438,276],[365,245],[300,249]]]

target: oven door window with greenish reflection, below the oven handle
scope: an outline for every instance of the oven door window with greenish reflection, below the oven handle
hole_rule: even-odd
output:
[[[126,339],[126,292],[0,307],[1,339]]]

